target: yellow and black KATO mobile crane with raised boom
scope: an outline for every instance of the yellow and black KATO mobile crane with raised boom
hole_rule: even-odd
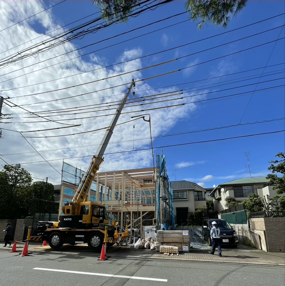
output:
[[[104,152],[132,87],[135,87],[134,80],[132,80],[127,93],[116,110],[111,124],[107,128],[105,136],[82,177],[77,190],[75,189],[71,202],[65,203],[62,207],[64,215],[59,216],[58,222],[39,222],[40,226],[37,236],[31,236],[31,227],[29,227],[27,241],[48,241],[52,249],[59,249],[64,243],[71,245],[87,243],[91,249],[98,251],[104,242],[107,242],[107,246],[111,246],[128,236],[127,229],[125,232],[117,231],[118,223],[115,223],[115,220],[109,220],[105,205],[88,201],[88,191],[91,188],[96,172],[104,160]],[[135,92],[133,92],[133,95],[135,95]],[[96,195],[98,196],[98,194]],[[105,239],[107,241],[104,241]]]

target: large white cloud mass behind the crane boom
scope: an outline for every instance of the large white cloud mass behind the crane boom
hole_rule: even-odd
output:
[[[0,30],[6,27],[17,23],[21,19],[25,19],[41,10],[45,9],[43,2],[41,1],[0,1]],[[17,11],[17,13],[15,13]],[[33,21],[23,21],[17,25],[10,27],[1,32],[1,36],[5,41],[0,46],[0,59],[3,59],[10,54],[13,54],[17,51],[21,51],[27,47],[30,47],[33,44],[39,43],[49,37],[42,35],[41,38],[33,40],[29,43],[25,43],[29,39],[40,36],[38,31],[35,31],[36,22],[40,22],[42,27],[44,27],[46,33],[47,31],[52,31],[59,27],[56,21],[53,19],[52,10],[47,10],[39,15],[34,16]],[[56,31],[56,33],[63,32],[63,29]],[[55,33],[52,33],[54,35]],[[86,36],[86,37],[92,37]],[[69,60],[71,57],[79,56],[82,52],[72,52],[55,59],[49,59],[57,55],[66,53],[73,49],[76,49],[80,44],[80,41],[76,41],[76,46],[73,42],[60,45],[56,48],[50,49],[45,53],[40,53],[37,57],[29,57],[23,61],[17,61],[12,65],[8,65],[5,68],[1,68],[0,82],[1,90],[7,90],[10,88],[17,88],[26,85],[33,85],[40,82],[51,81],[43,84],[38,84],[34,86],[29,86],[25,88],[18,88],[15,90],[5,91],[4,98],[10,97],[11,102],[22,105],[22,104],[31,104],[25,106],[27,110],[32,112],[43,112],[41,116],[51,116],[46,117],[50,120],[64,120],[59,121],[65,124],[81,124],[81,126],[74,128],[66,128],[59,130],[49,130],[45,132],[31,132],[24,133],[25,136],[53,136],[53,135],[62,135],[62,134],[74,134],[77,132],[86,132],[90,130],[97,130],[99,128],[106,127],[110,124],[115,109],[115,106],[100,107],[100,104],[107,102],[120,101],[123,98],[122,94],[125,94],[128,84],[125,84],[121,87],[112,88],[104,90],[102,92],[94,92],[96,90],[101,90],[106,87],[117,86],[123,83],[131,82],[131,79],[135,80],[144,78],[144,75],[140,72],[133,72],[123,76],[113,77],[108,80],[101,80],[96,83],[86,84],[74,88],[69,88],[65,90],[59,90],[56,92],[47,92],[53,89],[65,88],[68,86],[73,86],[77,84],[83,84],[86,82],[91,82],[96,79],[107,78],[110,76],[116,76],[118,74],[127,73],[132,70],[137,70],[142,67],[142,63],[139,59],[129,61],[120,65],[115,65],[114,67],[105,68],[104,63],[107,61],[102,58],[100,54],[92,54],[91,57],[78,57],[77,59]],[[17,45],[20,45],[16,49],[11,49]],[[6,51],[7,49],[11,49]],[[133,48],[130,50],[125,50],[123,54],[118,55],[118,62],[124,61],[127,59],[132,59],[142,55],[142,50],[140,47]],[[45,62],[42,62],[45,59],[49,59]],[[65,63],[57,64],[59,61],[66,61]],[[37,63],[32,67],[27,67],[28,65]],[[112,62],[114,63],[114,62]],[[111,62],[108,64],[112,64]],[[54,65],[42,69],[39,72],[34,72],[32,74],[27,74],[33,70],[47,67],[48,65]],[[27,67],[16,71],[17,69]],[[91,69],[100,68],[96,71],[86,72],[77,76],[71,76],[73,74],[78,74],[80,72],[89,71]],[[3,75],[4,73],[11,74]],[[71,76],[71,77],[70,77]],[[16,78],[17,77],[17,78]],[[65,79],[52,81],[58,78],[67,77]],[[12,79],[15,78],[15,79]],[[6,81],[7,80],[7,81]],[[155,84],[155,83],[154,83]],[[144,91],[152,88],[147,82],[137,83],[136,84],[136,96],[147,96],[153,94],[153,91]],[[170,92],[174,89],[158,89],[157,93]],[[17,96],[47,92],[45,94],[39,94],[35,96],[19,97]],[[77,96],[70,99],[58,100],[60,98],[68,96],[76,96],[79,94],[87,93],[81,96]],[[133,98],[132,95],[130,95]],[[175,98],[171,96],[170,98]],[[42,101],[53,100],[48,103],[37,104]],[[151,100],[148,102],[154,102],[157,100]],[[187,102],[189,100],[182,99],[180,103]],[[97,105],[96,105],[97,104]],[[196,110],[195,104],[185,105],[183,108],[171,108],[173,102],[169,101],[167,103],[156,103],[156,107],[160,106],[169,106],[166,109],[163,109],[163,112],[167,111],[167,117],[164,117],[161,120],[161,110],[151,112],[152,120],[152,135],[158,136],[165,134],[170,130],[176,123],[189,116],[192,112]],[[84,108],[92,107],[92,110],[81,110],[80,107],[87,106]],[[154,105],[147,105],[146,108],[152,108]],[[69,112],[65,113],[51,113],[51,110],[58,110],[60,108],[71,108]],[[71,111],[74,110],[74,111]],[[130,106],[126,104],[123,114],[118,121],[118,123],[123,123],[128,120],[131,120],[131,116],[138,115],[138,110],[135,106]],[[82,113],[79,112],[87,112]],[[38,118],[33,114],[27,114],[24,110],[20,108],[10,108],[9,106],[4,106],[2,112],[4,114],[13,114],[9,117],[13,119],[3,120],[3,122],[17,122],[5,124],[5,128],[17,131],[29,131],[29,130],[41,130],[47,128],[58,128],[63,127],[63,125],[48,122],[44,119]],[[55,111],[52,111],[55,112]],[[124,112],[131,112],[124,114]],[[77,114],[74,114],[77,113]],[[106,116],[106,114],[110,114]],[[100,116],[100,117],[99,117]],[[29,117],[29,118],[28,118]],[[83,119],[79,119],[84,117]],[[89,118],[88,118],[89,117]],[[40,121],[40,122],[38,122]],[[30,123],[31,122],[31,123]],[[138,152],[128,152],[123,153],[124,151],[133,150],[133,144],[135,149],[143,149],[150,147],[150,139],[144,140],[135,140],[133,142],[133,125],[135,125],[135,139],[140,138],[149,138],[149,128],[148,122],[143,121],[142,119],[135,122],[129,122],[126,124],[116,126],[114,134],[110,140],[110,143],[105,152],[104,162],[101,165],[100,171],[109,171],[109,170],[122,170],[122,169],[131,169],[131,168],[143,168],[149,167],[152,165],[152,153],[151,150],[143,150]],[[4,128],[4,124],[1,125]],[[98,144],[101,142],[105,130],[93,131],[90,133],[71,135],[65,137],[53,137],[53,138],[27,138],[27,140],[35,147],[36,150],[40,151],[40,154],[47,160],[51,161],[50,164],[58,171],[56,172],[51,168],[46,162],[24,164],[27,162],[37,162],[43,161],[43,159],[33,150],[33,148],[16,132],[11,132],[3,130],[4,139],[1,139],[0,144],[0,154],[5,156],[5,161],[9,164],[20,163],[22,167],[26,168],[31,172],[32,176],[36,178],[45,178],[48,177],[49,182],[51,183],[60,183],[61,180],[61,168],[62,168],[62,159],[69,157],[81,157],[73,159],[65,159],[64,161],[73,165],[78,166],[79,168],[85,170],[91,156],[97,150]],[[119,143],[116,143],[119,142]],[[90,146],[95,145],[95,146]],[[77,147],[80,146],[80,147]],[[76,148],[75,148],[76,147]],[[47,151],[50,150],[50,151]],[[21,154],[19,154],[21,153]],[[108,154],[112,153],[112,154]],[[15,154],[15,155],[9,155]],[[86,156],[85,158],[83,158]],[[60,160],[57,160],[60,159]]]

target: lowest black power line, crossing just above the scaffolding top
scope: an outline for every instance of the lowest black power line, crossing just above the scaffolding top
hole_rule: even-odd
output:
[[[229,140],[229,139],[248,138],[248,137],[252,137],[252,136],[259,136],[259,135],[266,135],[266,134],[277,134],[277,133],[284,132],[284,131],[285,130],[278,130],[278,131],[272,131],[272,132],[263,132],[263,133],[256,133],[256,134],[250,134],[250,135],[243,135],[243,136],[234,136],[234,137],[227,137],[227,138],[220,138],[220,139],[212,139],[212,140],[188,142],[188,143],[181,143],[181,144],[165,145],[165,146],[154,147],[154,149],[177,147],[177,146],[186,146],[186,145],[191,145],[191,144],[200,144],[200,143],[208,143],[208,142],[218,142],[218,141]],[[151,150],[151,149],[152,148],[132,149],[132,150],[127,150],[127,151],[105,153],[105,155],[122,154],[122,153],[129,153],[129,152],[138,152],[138,151],[145,151],[145,150]],[[89,156],[77,156],[77,157],[67,157],[67,158],[52,159],[52,160],[47,160],[47,161],[51,162],[51,161],[58,161],[58,160],[87,158],[87,157],[91,158],[92,155],[89,155]],[[32,163],[41,163],[41,162],[45,162],[45,161],[25,162],[25,163],[21,163],[21,164],[23,165],[23,164],[32,164]]]

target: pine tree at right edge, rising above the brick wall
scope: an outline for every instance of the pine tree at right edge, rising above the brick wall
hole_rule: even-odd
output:
[[[281,158],[282,160],[269,162],[271,165],[268,167],[268,170],[271,170],[272,174],[268,174],[266,179],[269,180],[269,185],[273,185],[272,189],[277,190],[276,194],[283,194],[285,192],[285,153],[279,152],[275,157]],[[283,176],[278,177],[275,173],[283,174]]]

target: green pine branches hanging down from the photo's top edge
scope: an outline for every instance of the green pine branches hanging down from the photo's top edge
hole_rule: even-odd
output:
[[[162,1],[158,5],[172,1]],[[140,4],[138,0],[94,0],[93,3],[101,9],[103,19],[125,23],[135,7],[141,5],[144,7],[148,4]],[[222,25],[223,28],[226,28],[231,15],[236,16],[246,6],[246,3],[247,0],[187,0],[185,8],[192,21],[199,19],[198,29],[201,29],[206,23],[212,23],[215,26]]]

